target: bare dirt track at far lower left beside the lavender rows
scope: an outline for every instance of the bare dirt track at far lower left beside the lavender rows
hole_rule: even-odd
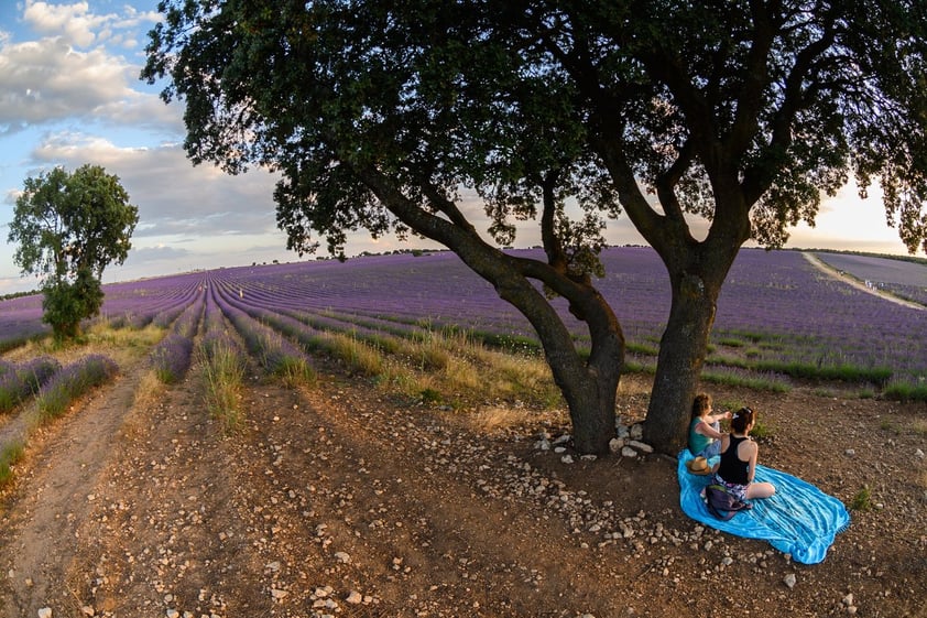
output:
[[[126,370],[30,438],[42,442],[42,448],[20,481],[17,508],[0,534],[4,618],[35,616],[42,607],[63,603],[66,568],[80,542],[78,527],[92,508],[145,368],[134,361]],[[29,422],[26,414],[21,416]]]

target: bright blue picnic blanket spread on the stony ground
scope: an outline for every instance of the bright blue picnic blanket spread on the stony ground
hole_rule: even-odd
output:
[[[689,473],[686,462],[691,458],[687,448],[678,457],[679,505],[687,516],[711,528],[768,541],[778,551],[792,554],[796,562],[817,564],[824,561],[833,538],[850,524],[850,513],[840,500],[799,478],[761,465],[756,466],[756,481],[772,483],[775,496],[751,500],[752,509],[722,521],[708,512],[701,496],[712,475]],[[718,459],[713,457],[709,463]]]

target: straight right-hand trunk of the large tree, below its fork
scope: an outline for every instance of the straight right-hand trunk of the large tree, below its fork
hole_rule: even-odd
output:
[[[673,282],[673,303],[659,343],[644,440],[674,457],[686,446],[719,289],[696,274],[684,274]]]

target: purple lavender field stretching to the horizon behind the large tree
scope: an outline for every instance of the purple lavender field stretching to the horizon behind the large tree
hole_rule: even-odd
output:
[[[629,368],[650,370],[669,308],[665,270],[643,247],[609,249],[603,262],[608,274],[598,286],[621,321]],[[102,318],[111,325],[171,326],[173,341],[195,337],[198,330],[189,324],[204,312],[220,312],[269,370],[306,362],[318,333],[346,333],[381,345],[386,338],[462,330],[493,346],[537,349],[527,321],[446,251],[227,268],[111,284],[105,292]],[[582,325],[571,321],[563,303],[559,308],[578,345],[585,345]],[[181,316],[183,328],[175,324]],[[0,304],[0,349],[43,332],[41,299]],[[181,357],[172,362],[183,367],[189,350],[159,354]],[[840,282],[799,252],[746,249],[719,299],[706,375],[923,390],[927,311]]]

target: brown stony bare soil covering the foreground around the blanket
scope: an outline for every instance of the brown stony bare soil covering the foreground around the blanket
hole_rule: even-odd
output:
[[[924,403],[710,389],[772,429],[762,463],[871,489],[808,566],[689,520],[669,457],[566,464],[535,445],[559,414],[489,430],[330,369],[249,379],[223,435],[196,366],[156,397],[123,368],[1,497],[0,617],[927,616]],[[625,378],[624,421],[648,388]]]

